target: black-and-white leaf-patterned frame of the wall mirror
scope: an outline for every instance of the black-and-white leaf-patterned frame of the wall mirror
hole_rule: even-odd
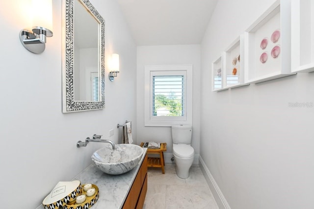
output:
[[[71,113],[105,108],[105,20],[97,12],[89,0],[79,0],[87,10],[100,22],[100,54],[99,54],[99,81],[100,101],[75,101],[74,100],[74,38],[73,14],[74,0],[63,0],[62,18],[62,112]]]

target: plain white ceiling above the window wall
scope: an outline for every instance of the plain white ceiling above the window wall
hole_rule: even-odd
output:
[[[200,44],[218,0],[117,0],[137,46]]]

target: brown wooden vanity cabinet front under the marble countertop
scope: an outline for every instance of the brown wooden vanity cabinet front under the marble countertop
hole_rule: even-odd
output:
[[[142,209],[147,191],[147,154],[136,174],[122,209]]]

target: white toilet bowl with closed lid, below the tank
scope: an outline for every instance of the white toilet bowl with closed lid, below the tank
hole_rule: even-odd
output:
[[[194,161],[193,147],[188,144],[173,144],[173,155],[177,176],[181,179],[188,178],[190,167]]]

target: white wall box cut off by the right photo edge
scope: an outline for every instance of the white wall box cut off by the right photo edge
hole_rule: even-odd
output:
[[[292,0],[291,8],[291,72],[313,72],[314,0]]]

